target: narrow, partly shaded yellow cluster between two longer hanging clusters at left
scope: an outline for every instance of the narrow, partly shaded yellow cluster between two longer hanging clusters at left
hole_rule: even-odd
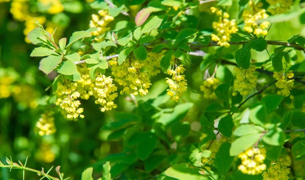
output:
[[[85,65],[78,65],[78,72],[81,74],[81,79],[77,81],[77,92],[80,93],[81,99],[89,99],[93,95],[94,83],[91,81],[89,76],[89,68]]]

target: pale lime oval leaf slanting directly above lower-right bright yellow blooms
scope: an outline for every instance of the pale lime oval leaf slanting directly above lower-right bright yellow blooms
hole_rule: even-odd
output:
[[[241,136],[240,138],[236,139],[231,144],[230,156],[237,156],[240,152],[252,147],[255,143],[258,142],[261,136],[262,134],[259,133]]]

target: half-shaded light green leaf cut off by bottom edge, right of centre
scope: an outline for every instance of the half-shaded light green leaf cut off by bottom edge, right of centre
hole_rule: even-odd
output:
[[[179,180],[205,180],[207,176],[199,173],[201,169],[196,167],[189,167],[187,164],[176,164],[165,171],[167,176]]]

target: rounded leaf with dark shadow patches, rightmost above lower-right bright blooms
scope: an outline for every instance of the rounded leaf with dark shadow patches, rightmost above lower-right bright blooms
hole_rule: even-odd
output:
[[[281,146],[285,141],[285,133],[279,127],[272,128],[263,136],[262,140],[273,146]]]

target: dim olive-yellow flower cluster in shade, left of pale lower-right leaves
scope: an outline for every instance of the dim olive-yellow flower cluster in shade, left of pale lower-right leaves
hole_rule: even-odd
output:
[[[203,137],[206,137],[206,134],[204,134]],[[203,138],[201,137],[201,138]],[[226,137],[221,137],[219,140],[213,140],[213,141],[209,141],[207,143],[205,143],[202,147],[201,147],[201,151],[203,150],[210,150],[211,151],[211,156],[209,158],[201,158],[201,162],[204,164],[207,162],[208,165],[212,165],[216,156],[216,153],[218,152],[220,146],[222,145],[222,143],[224,142],[228,142],[228,138]],[[211,159],[212,158],[212,159]]]

